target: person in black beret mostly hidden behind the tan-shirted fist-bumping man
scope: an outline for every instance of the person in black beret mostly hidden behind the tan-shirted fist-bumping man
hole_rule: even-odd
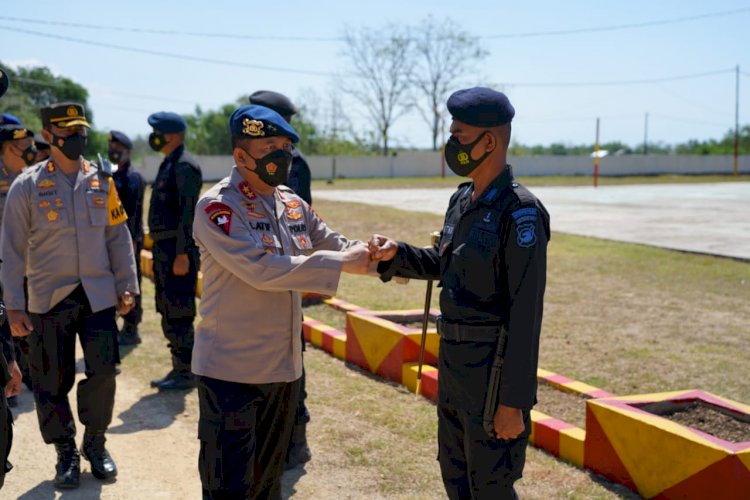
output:
[[[250,104],[257,104],[271,108],[281,115],[287,123],[291,123],[292,116],[297,114],[297,107],[292,104],[284,94],[272,90],[258,90],[250,94]],[[289,177],[286,185],[292,188],[297,195],[312,204],[312,192],[310,189],[310,166],[299,149],[292,145],[292,167],[289,169]],[[300,332],[302,351],[305,350],[305,337]],[[300,382],[300,396],[297,404],[297,414],[294,419],[294,431],[289,441],[289,451],[286,456],[286,468],[291,469],[296,465],[309,462],[312,452],[307,444],[307,423],[310,422],[310,412],[305,405],[307,391],[305,390],[305,367],[302,366],[302,379]]]

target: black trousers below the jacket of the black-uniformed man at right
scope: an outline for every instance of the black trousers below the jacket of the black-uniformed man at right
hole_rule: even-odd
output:
[[[526,430],[520,437],[501,441],[487,436],[481,415],[470,415],[438,405],[438,461],[451,500],[505,500],[517,498],[513,483],[526,463],[531,420],[524,412]]]

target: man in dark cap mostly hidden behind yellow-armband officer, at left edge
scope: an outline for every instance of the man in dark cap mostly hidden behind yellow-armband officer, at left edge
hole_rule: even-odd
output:
[[[10,186],[24,168],[36,163],[34,161],[36,154],[34,133],[31,130],[22,125],[0,125],[0,227],[2,227],[3,210]],[[0,334],[6,338],[11,337],[7,322],[0,326],[0,331],[2,332]],[[20,369],[24,382],[31,387],[28,350],[26,339],[13,339],[13,359],[16,363],[11,363],[11,373],[15,375]],[[17,404],[16,396],[8,398],[8,405],[11,408]]]

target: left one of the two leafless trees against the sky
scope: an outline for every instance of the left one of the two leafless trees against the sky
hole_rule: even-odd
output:
[[[410,108],[413,40],[404,27],[347,29],[344,54],[350,71],[341,88],[367,110],[383,155],[388,155],[389,132]]]

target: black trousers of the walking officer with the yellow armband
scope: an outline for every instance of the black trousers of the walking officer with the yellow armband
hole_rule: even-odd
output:
[[[115,308],[92,312],[79,286],[49,312],[31,314],[31,323],[29,368],[44,442],[61,442],[76,434],[68,402],[76,374],[76,334],[86,363],[86,378],[77,389],[78,419],[89,430],[107,430],[115,405]]]

